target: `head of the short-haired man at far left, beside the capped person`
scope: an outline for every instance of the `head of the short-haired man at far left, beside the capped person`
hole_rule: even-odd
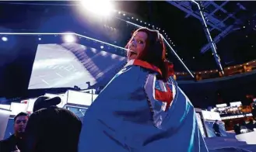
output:
[[[25,112],[20,112],[14,117],[14,133],[16,136],[24,133],[28,119],[29,116]]]

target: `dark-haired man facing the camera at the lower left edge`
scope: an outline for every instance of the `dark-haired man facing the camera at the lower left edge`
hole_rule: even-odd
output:
[[[25,112],[20,112],[14,117],[14,134],[9,136],[9,138],[7,138],[6,140],[0,141],[1,152],[24,151],[24,132],[28,119],[29,116]]]

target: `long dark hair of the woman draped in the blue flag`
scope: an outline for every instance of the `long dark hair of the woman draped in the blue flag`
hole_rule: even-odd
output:
[[[166,48],[163,42],[163,37],[158,30],[151,30],[148,28],[140,28],[135,30],[132,34],[132,38],[128,41],[125,48],[132,43],[133,36],[138,32],[144,32],[147,34],[146,47],[139,55],[139,60],[145,60],[149,64],[153,64],[160,68],[162,75],[159,77],[163,81],[167,81],[168,78],[168,64],[166,61]]]

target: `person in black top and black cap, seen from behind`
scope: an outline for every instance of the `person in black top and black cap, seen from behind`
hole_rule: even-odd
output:
[[[82,123],[68,109],[58,108],[61,98],[40,96],[26,125],[26,152],[75,152]]]

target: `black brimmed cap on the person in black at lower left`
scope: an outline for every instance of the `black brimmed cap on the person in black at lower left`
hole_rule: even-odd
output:
[[[37,110],[49,108],[52,105],[58,105],[61,103],[60,97],[49,98],[47,96],[40,96],[37,98],[35,103],[33,104],[33,112]]]

